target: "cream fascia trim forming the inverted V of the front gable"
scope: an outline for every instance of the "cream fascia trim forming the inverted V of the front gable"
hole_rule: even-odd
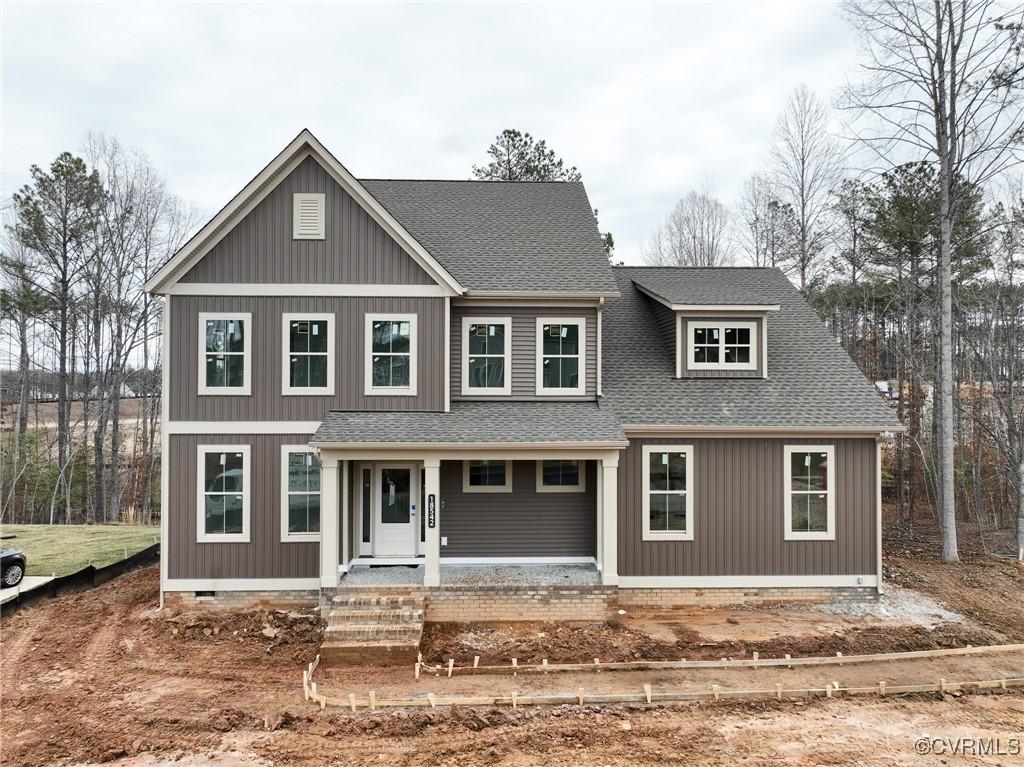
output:
[[[359,183],[338,160],[327,151],[317,138],[303,129],[255,178],[247,183],[227,205],[211,218],[203,228],[185,243],[156,274],[145,283],[150,293],[165,293],[177,278],[194,266],[231,229],[232,222],[241,219],[273,189],[278,182],[307,157],[316,160],[349,195],[370,213],[385,231],[401,244],[409,255],[433,278],[438,285],[455,294],[465,293],[465,288],[420,245],[416,239],[392,216],[367,188]]]

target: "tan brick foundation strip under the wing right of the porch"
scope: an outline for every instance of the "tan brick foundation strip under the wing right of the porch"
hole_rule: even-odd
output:
[[[618,605],[623,608],[649,609],[743,604],[772,606],[785,604],[831,604],[844,602],[877,602],[873,586],[837,587],[772,587],[713,589],[618,589]]]

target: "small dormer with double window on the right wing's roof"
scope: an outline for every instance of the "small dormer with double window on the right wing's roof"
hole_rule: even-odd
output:
[[[716,272],[659,269],[633,282],[650,299],[676,378],[767,378],[768,317],[779,305],[744,289],[742,270],[726,285]]]

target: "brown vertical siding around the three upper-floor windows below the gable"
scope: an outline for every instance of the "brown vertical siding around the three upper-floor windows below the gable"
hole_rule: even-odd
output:
[[[444,299],[377,296],[169,296],[172,421],[319,421],[329,410],[443,411]],[[282,394],[283,314],[330,312],[334,323],[334,395]],[[253,315],[252,394],[199,394],[199,315]],[[366,314],[418,316],[417,394],[367,396]]]

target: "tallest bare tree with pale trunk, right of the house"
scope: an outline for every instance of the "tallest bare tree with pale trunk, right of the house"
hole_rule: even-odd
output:
[[[1019,162],[1021,8],[997,0],[847,0],[860,34],[864,81],[850,108],[871,118],[860,132],[884,163],[938,166],[942,559],[958,559],[953,476],[952,251],[958,190]]]

